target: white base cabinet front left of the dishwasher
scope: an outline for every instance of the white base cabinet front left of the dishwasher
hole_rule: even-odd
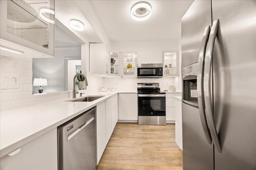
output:
[[[18,152],[18,151],[17,151]],[[20,152],[0,159],[1,170],[57,170],[57,128],[26,143]]]

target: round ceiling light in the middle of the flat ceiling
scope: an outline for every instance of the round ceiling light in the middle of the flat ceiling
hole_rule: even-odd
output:
[[[145,21],[151,16],[152,8],[148,2],[138,2],[132,6],[131,16],[136,21]]]

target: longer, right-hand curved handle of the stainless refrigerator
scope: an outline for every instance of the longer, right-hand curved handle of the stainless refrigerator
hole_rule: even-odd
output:
[[[214,47],[214,41],[218,31],[219,20],[215,20],[212,24],[209,40],[206,46],[205,60],[204,60],[204,104],[206,119],[208,127],[212,136],[214,146],[221,152],[220,140],[214,123],[213,107],[212,107],[212,95],[211,95],[211,70],[212,70],[212,52]]]

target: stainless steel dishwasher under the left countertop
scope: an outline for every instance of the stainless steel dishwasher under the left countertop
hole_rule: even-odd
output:
[[[94,170],[96,165],[96,108],[58,127],[58,170]]]

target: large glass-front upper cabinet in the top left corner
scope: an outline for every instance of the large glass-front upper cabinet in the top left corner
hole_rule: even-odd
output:
[[[0,0],[1,46],[54,57],[54,12],[54,0]]]

